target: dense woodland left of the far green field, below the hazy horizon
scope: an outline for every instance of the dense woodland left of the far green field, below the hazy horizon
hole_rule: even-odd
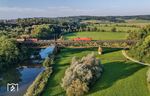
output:
[[[24,19],[21,20],[24,21]],[[83,29],[86,26],[85,24],[80,24],[74,21],[70,21],[70,22],[59,21],[56,24],[54,24],[54,22],[48,22],[48,24],[45,22],[41,22],[41,23],[31,22],[31,24],[28,23],[26,24],[27,25],[20,24],[20,23],[17,24],[0,23],[0,35],[6,35],[13,38],[17,38],[21,35],[31,35],[33,37],[37,37],[41,39],[47,37],[54,37],[54,34],[59,36],[62,33],[76,32],[79,31],[80,28]]]

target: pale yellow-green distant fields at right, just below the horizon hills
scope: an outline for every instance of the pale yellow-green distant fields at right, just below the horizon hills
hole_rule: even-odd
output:
[[[117,32],[130,32],[139,31],[141,27],[150,24],[150,20],[135,20],[129,19],[126,23],[112,23],[109,21],[99,20],[84,20],[82,23],[88,23],[89,28],[96,28],[96,30],[104,30],[105,32],[111,32],[112,28],[116,28]]]

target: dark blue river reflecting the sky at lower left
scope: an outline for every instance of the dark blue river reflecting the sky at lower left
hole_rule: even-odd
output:
[[[44,60],[49,54],[52,54],[54,46],[41,49],[38,55],[41,60]],[[32,56],[34,57],[34,56]],[[40,62],[41,60],[33,60]],[[31,61],[31,60],[29,60]],[[26,62],[26,61],[24,61]],[[28,61],[27,61],[28,62]],[[5,72],[0,73],[0,96],[23,96],[27,88],[32,84],[35,78],[44,70],[41,63],[21,64],[16,68],[10,68]],[[8,83],[18,84],[18,91],[10,92]]]

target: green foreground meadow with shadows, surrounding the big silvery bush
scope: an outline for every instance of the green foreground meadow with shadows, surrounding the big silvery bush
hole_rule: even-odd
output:
[[[82,57],[95,52],[104,64],[102,77],[90,87],[89,96],[149,96],[146,85],[147,67],[127,61],[119,49],[104,49],[99,56],[96,48],[62,49],[53,65],[53,74],[49,78],[43,96],[64,96],[61,79],[73,56]]]

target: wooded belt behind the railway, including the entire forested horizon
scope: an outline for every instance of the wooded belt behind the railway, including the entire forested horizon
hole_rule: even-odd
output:
[[[39,39],[54,39],[68,32],[105,31],[88,27],[86,20],[100,20],[122,23],[128,19],[150,20],[150,15],[144,16],[70,16],[58,18],[22,18],[0,20],[0,35],[18,38],[21,35],[30,35]],[[115,28],[112,28],[115,31]]]

